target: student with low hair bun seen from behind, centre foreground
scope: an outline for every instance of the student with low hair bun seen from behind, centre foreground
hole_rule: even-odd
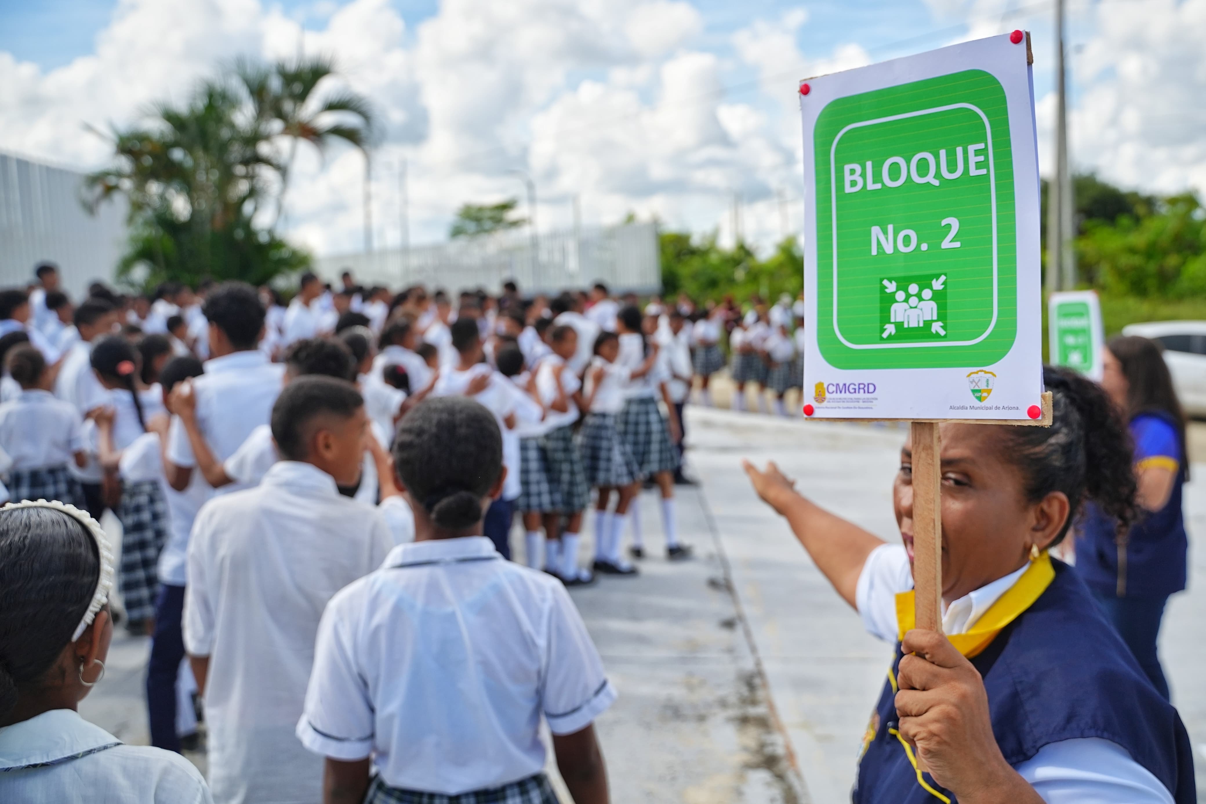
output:
[[[543,718],[573,799],[607,802],[593,721],[615,691],[598,652],[560,583],[480,535],[504,483],[493,415],[427,400],[393,453],[415,544],[328,604],[297,721],[326,757],[326,800],[556,800]]]

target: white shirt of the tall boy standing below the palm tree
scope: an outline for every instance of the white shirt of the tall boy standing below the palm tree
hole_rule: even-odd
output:
[[[197,427],[218,460],[235,453],[251,432],[267,424],[281,393],[285,366],[269,363],[263,352],[234,352],[205,364],[205,374],[193,378]],[[193,447],[178,417],[168,434],[168,459],[177,466],[195,466]],[[239,491],[226,486],[219,493]]]

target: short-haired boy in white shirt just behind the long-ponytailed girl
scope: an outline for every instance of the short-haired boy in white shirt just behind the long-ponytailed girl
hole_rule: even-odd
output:
[[[81,416],[87,417],[110,401],[109,392],[100,385],[100,380],[92,370],[92,344],[112,333],[117,321],[117,311],[104,299],[88,299],[76,307],[75,325],[80,331],[80,340],[63,358],[59,376],[54,381],[54,395],[75,405]],[[96,463],[92,450],[89,450],[87,465],[75,469],[72,474],[83,489],[88,512],[94,518],[99,518],[107,507],[104,489],[105,474],[100,464]]]

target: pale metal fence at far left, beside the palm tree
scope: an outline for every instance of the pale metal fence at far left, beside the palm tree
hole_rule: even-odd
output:
[[[34,266],[58,263],[77,300],[88,283],[109,281],[125,240],[124,199],[95,216],[80,205],[83,174],[0,153],[0,286],[34,281]]]

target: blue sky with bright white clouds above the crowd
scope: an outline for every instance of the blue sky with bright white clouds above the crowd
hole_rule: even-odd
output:
[[[1049,162],[1049,0],[0,0],[0,149],[105,164],[84,130],[182,100],[235,55],[334,57],[380,122],[376,242],[444,237],[464,201],[539,196],[541,229],[627,212],[761,245],[801,223],[798,78],[1031,30]],[[1078,168],[1147,190],[1206,190],[1206,0],[1070,0]],[[363,158],[302,149],[289,236],[363,243]]]

